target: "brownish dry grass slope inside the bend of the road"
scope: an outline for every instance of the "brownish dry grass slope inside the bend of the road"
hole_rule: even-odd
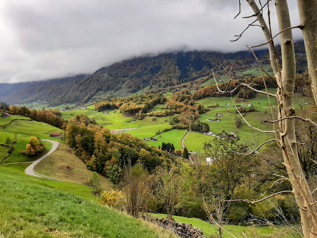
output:
[[[36,165],[34,171],[76,184],[84,184],[92,174],[92,171],[86,167],[84,162],[64,143],[60,143],[51,155]],[[100,185],[103,190],[113,188],[113,184],[103,176],[100,176]]]

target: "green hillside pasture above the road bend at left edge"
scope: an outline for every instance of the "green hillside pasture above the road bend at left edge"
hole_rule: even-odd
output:
[[[3,129],[0,128],[0,143],[4,143],[6,138],[9,137],[12,141],[17,136],[17,143],[15,143],[15,150],[12,154],[2,161],[2,163],[12,163],[12,162],[26,162],[33,161],[35,158],[29,158],[23,155],[21,152],[25,149],[26,144],[31,136],[39,137],[41,139],[57,140],[50,137],[51,132],[63,132],[61,129],[46,124],[44,122],[26,120],[28,118],[23,117],[23,119],[17,119],[12,121],[9,125]],[[45,145],[51,146],[51,143],[46,143]]]

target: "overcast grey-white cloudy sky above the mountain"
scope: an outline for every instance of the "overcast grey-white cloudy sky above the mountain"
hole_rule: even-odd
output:
[[[262,0],[266,2],[266,0]],[[0,0],[0,83],[92,73],[174,50],[247,50],[265,42],[245,0]],[[278,32],[272,11],[273,35]],[[291,21],[299,24],[295,0]],[[266,16],[266,14],[264,14]],[[299,29],[293,30],[300,39]]]

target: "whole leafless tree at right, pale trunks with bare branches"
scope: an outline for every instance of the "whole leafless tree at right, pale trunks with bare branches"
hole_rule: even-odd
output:
[[[278,102],[278,116],[277,119],[274,117],[272,111],[272,120],[266,120],[264,122],[273,123],[274,131],[266,131],[267,133],[273,133],[275,135],[275,140],[283,152],[284,165],[287,169],[288,177],[281,177],[281,180],[287,180],[291,183],[292,191],[281,191],[275,194],[280,194],[282,192],[293,193],[296,200],[297,206],[300,211],[301,223],[303,235],[305,238],[312,238],[317,236],[317,208],[316,202],[313,199],[312,191],[310,190],[305,174],[302,167],[300,166],[300,161],[297,152],[297,142],[296,142],[296,131],[294,120],[300,119],[317,126],[317,124],[311,119],[303,119],[295,116],[295,109],[293,105],[294,98],[294,84],[295,84],[295,53],[294,53],[294,42],[292,35],[292,28],[300,28],[303,32],[304,43],[307,53],[308,70],[310,73],[310,78],[312,81],[312,90],[314,92],[315,101],[317,102],[317,40],[316,40],[316,29],[317,29],[317,17],[314,12],[317,10],[316,0],[297,0],[299,15],[301,19],[301,24],[297,26],[291,25],[289,8],[287,0],[275,0],[276,16],[279,27],[279,35],[281,41],[281,61],[283,68],[281,68],[281,63],[277,57],[276,48],[273,42],[273,35],[271,30],[271,18],[270,18],[270,0],[265,3],[261,9],[258,7],[254,0],[247,0],[249,6],[253,10],[254,14],[250,17],[256,17],[255,21],[261,26],[264,36],[267,40],[266,43],[261,45],[268,45],[270,52],[270,62],[276,84],[278,86],[276,94],[268,95],[269,101],[270,97],[276,98]],[[239,2],[240,4],[240,2]],[[262,10],[267,7],[269,24],[265,21]],[[240,13],[240,12],[239,12]],[[239,15],[239,14],[238,14]],[[254,22],[255,22],[254,21]],[[252,24],[250,24],[252,25]],[[249,26],[250,26],[249,25]],[[249,26],[247,28],[249,28]],[[242,34],[238,36],[238,39]],[[277,36],[276,35],[276,36]],[[236,39],[236,40],[238,40]],[[249,48],[250,49],[250,48]],[[253,52],[253,51],[252,51]],[[256,57],[255,53],[253,52]],[[256,58],[257,59],[257,58]],[[263,77],[263,70],[261,68],[261,63],[257,59],[260,70]],[[264,81],[265,83],[265,81]],[[261,93],[260,91],[252,88],[249,84],[241,83],[242,86],[247,86],[249,89]],[[218,90],[221,91],[218,87]],[[224,92],[224,91],[221,91]],[[271,102],[271,101],[270,101]],[[249,123],[248,123],[249,125]],[[250,126],[250,125],[249,125]],[[254,128],[254,127],[253,127]],[[270,142],[272,142],[271,140]],[[275,195],[273,194],[273,195]],[[257,201],[258,202],[258,201]],[[254,202],[253,202],[254,203]]]

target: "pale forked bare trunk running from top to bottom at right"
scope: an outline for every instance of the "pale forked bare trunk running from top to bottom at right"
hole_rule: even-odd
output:
[[[259,8],[257,7],[255,1],[247,0],[251,8],[253,9],[254,13],[257,14],[256,17],[259,23],[262,26],[263,32],[266,36],[266,39],[271,39],[272,35],[268,33],[268,27],[265,24],[265,21],[262,17]],[[298,0],[298,4],[308,5],[311,3],[310,0]],[[301,2],[305,2],[306,4]],[[316,0],[312,0],[312,2],[316,3]],[[279,63],[276,57],[275,49],[269,43],[269,50],[270,50],[270,60],[272,64],[272,68],[274,71],[274,75],[278,84],[277,90],[277,101],[278,101],[278,109],[279,109],[279,119],[283,119],[279,121],[279,140],[278,144],[283,150],[283,157],[284,157],[284,164],[289,174],[289,179],[293,187],[294,197],[296,199],[296,203],[300,209],[301,215],[301,223],[303,234],[305,238],[313,238],[317,237],[317,210],[316,205],[314,203],[314,199],[312,196],[312,192],[309,189],[307,184],[305,175],[303,170],[300,166],[298,153],[297,153],[297,145],[296,145],[296,138],[295,138],[295,125],[294,119],[284,119],[287,117],[291,117],[295,115],[295,110],[293,106],[293,98],[294,98],[294,83],[295,83],[295,55],[294,55],[294,43],[293,43],[293,35],[292,30],[285,30],[286,28],[291,27],[290,15],[288,10],[287,0],[275,0],[275,7],[277,12],[278,24],[281,39],[281,51],[282,51],[282,64],[283,69],[280,71]],[[313,9],[313,8],[312,8]],[[304,12],[304,10],[302,10]],[[307,11],[307,10],[306,10]],[[304,13],[303,13],[304,14]],[[313,16],[314,12],[311,11],[311,18],[315,18]],[[316,13],[315,13],[316,14]],[[301,16],[303,18],[303,16]],[[311,19],[307,20],[306,22],[311,23]],[[315,24],[313,28],[307,27],[306,33],[306,41],[307,38],[310,38],[311,45],[305,46],[306,51],[314,51],[312,49],[307,50],[307,48],[313,47],[316,49],[317,47],[317,40],[316,40],[316,33],[317,33],[317,25]],[[305,28],[305,27],[304,27]],[[285,31],[283,31],[285,30]],[[311,31],[312,30],[312,31]],[[283,32],[282,32],[283,31]],[[305,30],[304,30],[305,31]],[[268,35],[270,34],[270,35]],[[305,37],[304,37],[305,39]],[[305,43],[306,45],[306,43]],[[309,53],[310,56],[308,57],[315,57],[312,61],[317,63],[317,50],[315,52]],[[276,68],[275,68],[276,67]],[[314,67],[314,66],[311,66]],[[312,79],[312,87],[313,92],[314,88],[316,88],[316,93],[314,92],[315,100],[317,95],[317,80],[315,80],[316,86],[313,86],[313,73],[316,74],[317,79],[317,67],[315,66],[314,71],[311,72],[310,75]],[[314,74],[314,75],[315,75]]]

